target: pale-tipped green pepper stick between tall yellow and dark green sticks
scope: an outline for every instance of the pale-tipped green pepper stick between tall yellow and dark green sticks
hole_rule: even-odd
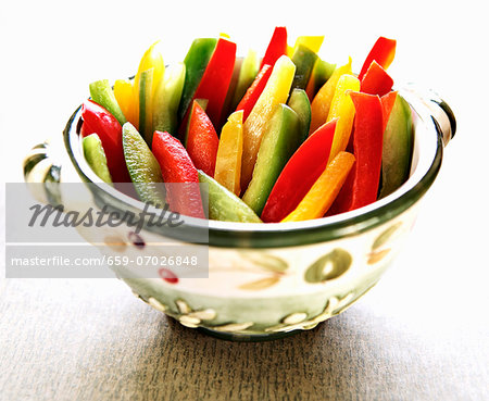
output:
[[[170,65],[153,99],[153,129],[174,136],[178,129],[178,104],[185,83],[185,64]]]

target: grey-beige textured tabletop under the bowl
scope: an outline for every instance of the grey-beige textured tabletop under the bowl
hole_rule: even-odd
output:
[[[376,292],[312,331],[239,343],[181,327],[118,281],[9,280],[0,399],[482,400],[482,333],[422,336],[375,311]]]

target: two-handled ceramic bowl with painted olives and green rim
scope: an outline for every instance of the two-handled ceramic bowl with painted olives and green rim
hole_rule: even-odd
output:
[[[411,176],[393,193],[362,209],[314,221],[210,221],[209,246],[189,245],[209,249],[209,278],[126,277],[125,283],[141,300],[184,326],[227,339],[278,338],[311,329],[344,311],[375,286],[400,250],[419,200],[440,168],[443,147],[455,133],[453,113],[435,93],[419,95],[410,87],[400,93],[413,110],[415,140]],[[65,149],[59,154],[53,148],[62,143],[61,138],[33,149],[24,163],[26,181],[100,181],[84,160],[80,124],[78,108],[64,129]],[[60,162],[60,156],[65,160]],[[97,202],[87,202],[100,206],[102,200],[125,209],[127,198],[112,189],[102,190]],[[192,223],[185,228],[198,229]],[[90,229],[80,234],[89,242],[100,242]],[[145,243],[162,237],[149,227],[134,236],[131,228],[123,226],[105,235],[108,246],[101,249],[108,254],[148,255],[158,249]]]

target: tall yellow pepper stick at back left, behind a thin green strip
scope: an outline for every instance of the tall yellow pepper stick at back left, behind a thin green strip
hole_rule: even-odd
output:
[[[141,61],[139,62],[138,72],[134,78],[133,93],[135,101],[135,120],[138,122],[139,122],[139,80],[141,77],[141,73],[153,68],[150,103],[146,104],[146,108],[149,113],[149,115],[146,118],[147,121],[150,121],[149,117],[151,116],[152,110],[151,99],[153,98],[156,88],[160,86],[160,82],[161,79],[163,79],[163,75],[165,73],[165,63],[163,61],[163,55],[160,49],[161,49],[160,40],[155,41],[153,45],[149,47],[149,49],[142,55]]]

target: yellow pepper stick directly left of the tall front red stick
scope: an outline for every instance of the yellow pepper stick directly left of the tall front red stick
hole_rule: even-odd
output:
[[[350,139],[355,116],[355,106],[350,98],[350,91],[360,91],[359,78],[349,74],[341,75],[336,85],[331,106],[326,120],[326,122],[330,122],[334,118],[338,118],[328,162],[335,159],[340,151],[347,149],[348,140]]]

